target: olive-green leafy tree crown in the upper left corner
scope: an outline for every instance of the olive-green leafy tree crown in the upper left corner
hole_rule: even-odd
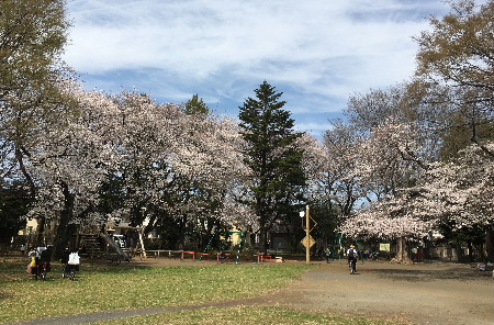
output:
[[[74,102],[60,90],[72,72],[60,60],[70,25],[64,0],[2,1],[0,14],[0,178],[23,179],[35,200],[29,170],[44,135],[63,130]],[[68,109],[70,108],[70,109]],[[45,218],[38,217],[38,233]]]

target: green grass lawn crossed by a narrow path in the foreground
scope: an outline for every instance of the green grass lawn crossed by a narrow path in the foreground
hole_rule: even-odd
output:
[[[97,311],[195,305],[256,296],[282,288],[292,279],[300,278],[305,270],[317,267],[82,264],[78,280],[70,281],[61,279],[61,266],[54,262],[47,280],[35,281],[25,272],[26,265],[25,258],[9,258],[0,264],[0,324]],[[278,307],[211,307],[139,316],[138,322],[128,317],[101,324],[347,324],[339,323],[341,320],[346,318]],[[353,320],[351,324],[383,323]]]

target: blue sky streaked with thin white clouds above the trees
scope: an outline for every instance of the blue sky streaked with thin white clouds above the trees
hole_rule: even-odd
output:
[[[319,136],[347,100],[408,79],[442,0],[74,0],[64,59],[86,88],[194,93],[220,114],[267,80],[295,127]]]

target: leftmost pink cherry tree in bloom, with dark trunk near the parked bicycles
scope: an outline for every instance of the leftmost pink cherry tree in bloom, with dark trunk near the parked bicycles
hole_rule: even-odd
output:
[[[99,92],[85,92],[72,82],[60,83],[78,103],[77,112],[60,115],[47,126],[29,156],[27,170],[36,183],[36,201],[29,217],[55,221],[55,254],[59,254],[76,224],[94,223],[99,187],[106,166],[114,164],[112,123],[115,105]],[[65,116],[65,117],[64,117]]]

